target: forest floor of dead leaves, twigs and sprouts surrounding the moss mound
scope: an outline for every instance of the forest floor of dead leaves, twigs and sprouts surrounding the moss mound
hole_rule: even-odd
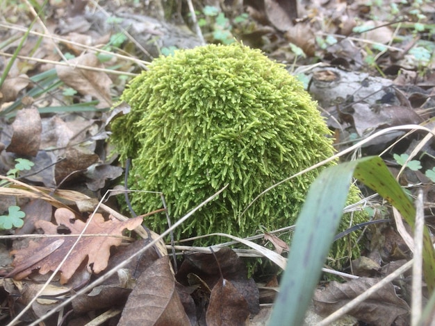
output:
[[[422,189],[434,232],[433,1],[6,0],[0,13],[0,325],[268,322],[281,268],[250,278],[244,256],[284,261],[293,225],[211,254],[165,243],[142,226],[144,216],[117,205],[124,164],[110,145],[110,108],[129,80],[177,49],[243,42],[283,63],[318,102],[336,150],[359,144],[341,159],[379,155],[413,198]],[[370,219],[384,223],[365,226],[361,257],[343,264],[349,277],[322,277],[306,325],[413,257],[411,228],[361,191]],[[196,253],[173,266],[172,252]],[[420,277],[420,305],[411,274],[340,325],[417,325],[420,317],[435,325],[433,282],[425,282],[434,271]]]

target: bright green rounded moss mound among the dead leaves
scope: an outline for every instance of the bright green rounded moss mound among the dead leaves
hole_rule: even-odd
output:
[[[131,189],[163,192],[177,220],[229,184],[177,230],[177,239],[212,232],[245,237],[261,225],[292,225],[320,170],[240,212],[267,187],[334,153],[330,131],[301,83],[283,65],[240,44],[158,58],[131,81],[122,100],[131,112],[113,122],[112,141],[122,160],[133,158]],[[358,199],[355,189],[350,201]],[[161,205],[159,196],[132,194],[139,213]],[[343,228],[348,224],[345,218]],[[156,232],[167,228],[164,217],[153,216],[147,225]]]

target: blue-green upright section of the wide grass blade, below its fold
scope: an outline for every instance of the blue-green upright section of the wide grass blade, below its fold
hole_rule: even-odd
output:
[[[270,325],[302,325],[334,240],[357,162],[331,166],[313,182],[296,221]]]

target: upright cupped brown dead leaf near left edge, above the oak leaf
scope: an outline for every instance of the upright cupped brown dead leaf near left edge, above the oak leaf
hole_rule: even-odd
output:
[[[12,127],[13,135],[6,151],[17,155],[35,156],[40,148],[42,131],[38,109],[31,107],[19,110]]]

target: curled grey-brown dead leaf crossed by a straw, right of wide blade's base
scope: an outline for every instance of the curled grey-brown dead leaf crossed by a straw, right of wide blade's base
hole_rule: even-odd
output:
[[[331,282],[325,290],[316,290],[313,298],[315,310],[321,315],[329,315],[356,298],[379,280],[360,277],[344,284]],[[409,314],[407,302],[397,297],[393,284],[387,284],[358,307],[350,311],[351,316],[370,325],[393,325],[394,320]],[[402,316],[403,317],[403,316]]]

